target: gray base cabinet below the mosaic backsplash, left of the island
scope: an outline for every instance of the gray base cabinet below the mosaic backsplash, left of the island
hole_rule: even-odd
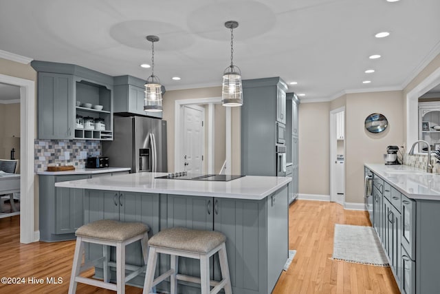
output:
[[[54,242],[74,240],[75,231],[83,225],[84,192],[80,189],[55,187],[55,182],[82,180],[89,175],[39,175],[40,240]]]

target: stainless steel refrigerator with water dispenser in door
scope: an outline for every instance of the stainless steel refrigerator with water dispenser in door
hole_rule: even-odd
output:
[[[167,171],[166,120],[144,116],[114,116],[113,141],[102,143],[111,167],[139,171]]]

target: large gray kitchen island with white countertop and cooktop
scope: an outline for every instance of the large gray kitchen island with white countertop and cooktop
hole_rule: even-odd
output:
[[[150,236],[170,227],[221,231],[227,238],[233,293],[271,293],[288,258],[287,185],[292,179],[244,176],[217,182],[155,178],[165,175],[91,178],[57,182],[56,187],[84,189],[85,223],[104,218],[140,221],[151,228]],[[89,259],[102,253],[100,246],[92,245],[87,248]],[[142,262],[140,244],[127,246],[126,254],[127,263]],[[159,258],[159,273],[166,271],[168,263],[169,259]],[[217,257],[210,266],[212,277],[220,280]],[[199,263],[181,258],[179,270],[199,275]],[[100,266],[96,266],[96,276],[102,277]],[[139,276],[129,284],[142,286],[143,282]],[[166,282],[158,286],[163,291],[168,287]],[[181,293],[199,293],[196,284],[181,282],[179,288]]]

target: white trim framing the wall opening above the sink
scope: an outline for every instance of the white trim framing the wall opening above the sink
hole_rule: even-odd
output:
[[[440,67],[406,94],[406,149],[419,138],[419,97],[440,84]]]

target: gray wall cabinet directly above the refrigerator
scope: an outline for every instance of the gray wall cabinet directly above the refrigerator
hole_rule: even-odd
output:
[[[162,118],[162,112],[144,112],[145,81],[134,76],[115,76],[114,112]],[[162,93],[163,94],[163,93]]]

